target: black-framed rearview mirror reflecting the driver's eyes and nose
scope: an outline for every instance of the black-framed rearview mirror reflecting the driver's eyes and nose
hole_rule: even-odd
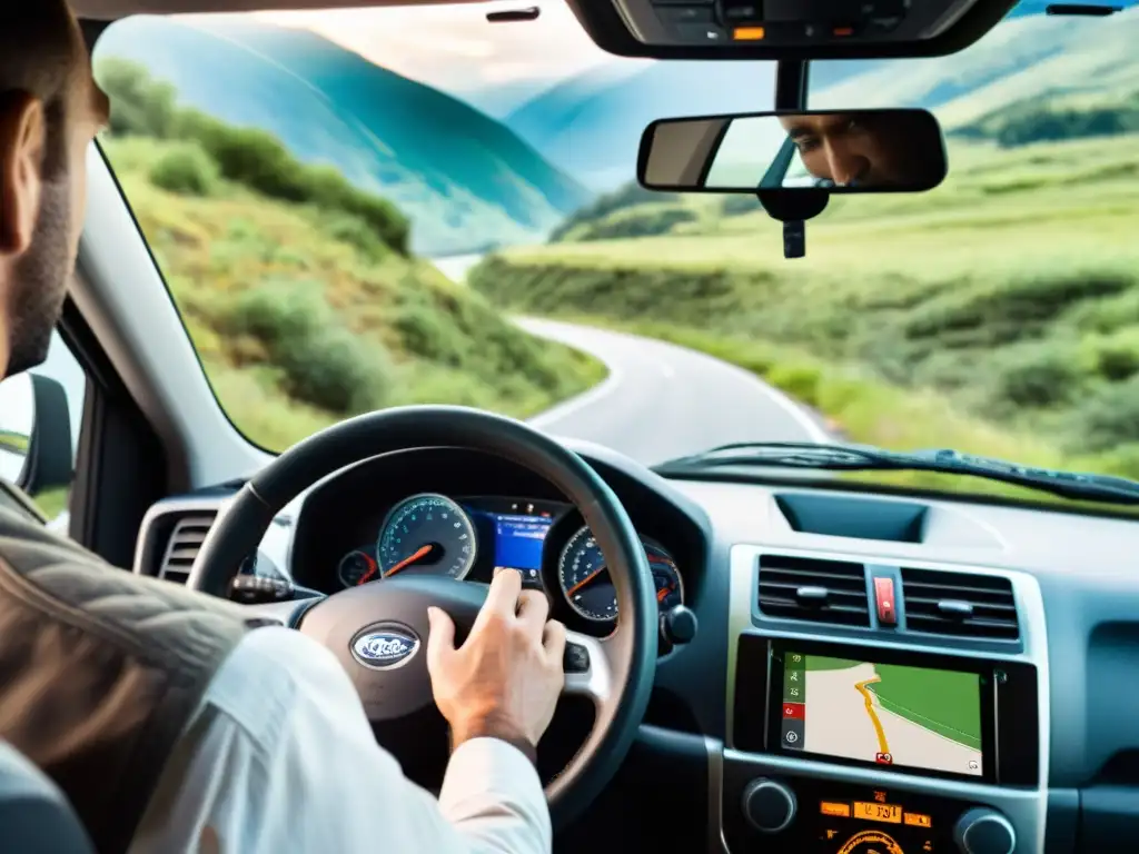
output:
[[[650,190],[918,192],[945,178],[924,109],[663,118],[645,129],[637,178]]]

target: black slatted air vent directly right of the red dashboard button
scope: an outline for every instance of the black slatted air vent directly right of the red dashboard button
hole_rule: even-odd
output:
[[[906,625],[913,632],[1016,640],[1013,582],[997,575],[967,575],[902,568]]]

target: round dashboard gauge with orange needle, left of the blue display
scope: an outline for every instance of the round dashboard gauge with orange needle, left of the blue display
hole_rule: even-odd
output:
[[[412,495],[384,519],[376,556],[384,578],[402,572],[462,578],[475,563],[475,528],[446,495]]]

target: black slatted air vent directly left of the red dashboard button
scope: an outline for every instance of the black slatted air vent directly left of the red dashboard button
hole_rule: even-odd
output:
[[[869,626],[866,567],[844,560],[763,555],[760,610],[769,617]]]

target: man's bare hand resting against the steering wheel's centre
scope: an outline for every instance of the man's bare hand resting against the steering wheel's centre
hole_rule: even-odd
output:
[[[454,747],[473,738],[536,747],[554,717],[565,679],[565,626],[547,622],[549,602],[522,590],[522,575],[503,569],[467,640],[454,648],[454,623],[428,608],[427,670],[435,705],[451,724]]]

